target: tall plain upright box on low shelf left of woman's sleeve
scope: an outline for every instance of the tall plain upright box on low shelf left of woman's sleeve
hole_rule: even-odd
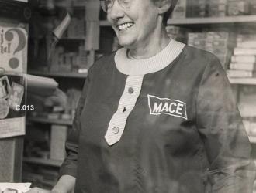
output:
[[[67,138],[67,126],[51,125],[50,130],[50,159],[64,160],[65,141]]]

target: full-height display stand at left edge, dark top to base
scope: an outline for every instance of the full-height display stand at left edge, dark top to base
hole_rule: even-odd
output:
[[[25,111],[14,110],[15,104],[26,104],[26,74],[28,20],[31,15],[26,0],[0,0],[0,182],[20,182],[22,148],[25,134]],[[12,12],[10,12],[12,10]],[[5,47],[7,46],[7,49]],[[10,62],[12,59],[12,62]],[[13,62],[14,61],[14,62]],[[20,81],[19,81],[20,80]],[[16,84],[17,83],[17,84]],[[16,90],[15,87],[22,88]],[[16,97],[16,91],[18,96]],[[12,97],[12,98],[11,98]],[[16,97],[16,98],[15,98]],[[19,100],[16,100],[19,99]],[[3,104],[4,103],[4,104]],[[5,107],[4,107],[5,105]],[[5,113],[6,110],[6,113]]]

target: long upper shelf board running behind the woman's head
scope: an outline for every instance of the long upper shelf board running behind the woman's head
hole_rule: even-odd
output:
[[[169,19],[168,25],[209,25],[209,24],[230,24],[230,23],[252,23],[256,22],[256,15],[240,15],[209,18],[185,18]],[[101,26],[110,26],[108,21],[100,21]]]

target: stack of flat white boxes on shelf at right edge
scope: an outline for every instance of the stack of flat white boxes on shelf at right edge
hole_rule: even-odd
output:
[[[237,46],[231,57],[230,69],[227,74],[230,77],[253,77],[256,68],[256,35],[237,35]]]

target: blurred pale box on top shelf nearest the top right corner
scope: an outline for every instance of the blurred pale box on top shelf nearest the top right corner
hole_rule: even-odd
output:
[[[227,15],[247,15],[249,5],[248,0],[227,0]]]

